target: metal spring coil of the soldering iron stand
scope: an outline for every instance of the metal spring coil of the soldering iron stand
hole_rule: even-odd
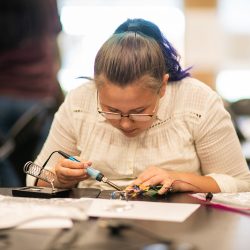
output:
[[[51,184],[52,189],[54,190],[54,180],[55,180],[55,174],[47,169],[44,169],[32,161],[28,161],[23,166],[24,173],[34,176],[38,179],[41,179],[43,181],[46,181]]]

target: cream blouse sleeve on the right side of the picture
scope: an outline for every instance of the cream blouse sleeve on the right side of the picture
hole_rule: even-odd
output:
[[[202,174],[214,178],[222,192],[250,190],[250,172],[221,98],[211,95],[195,134]]]

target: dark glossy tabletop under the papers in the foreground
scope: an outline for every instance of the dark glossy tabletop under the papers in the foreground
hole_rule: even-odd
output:
[[[87,191],[76,188],[69,196],[86,197],[91,189]],[[12,189],[0,188],[0,194],[12,195]],[[110,191],[99,195],[109,197]],[[200,203],[185,193],[170,194],[164,201]],[[156,248],[155,243],[161,243],[161,248]],[[0,249],[249,250],[250,216],[202,203],[182,223],[91,218],[76,222],[71,229],[1,230]]]

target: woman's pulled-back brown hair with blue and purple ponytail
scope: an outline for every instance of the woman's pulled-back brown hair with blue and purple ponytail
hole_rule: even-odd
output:
[[[169,74],[169,81],[189,75],[179,64],[175,49],[152,22],[128,19],[103,44],[97,53],[94,66],[95,80],[105,80],[125,87],[147,78],[146,86],[159,91],[162,79]]]

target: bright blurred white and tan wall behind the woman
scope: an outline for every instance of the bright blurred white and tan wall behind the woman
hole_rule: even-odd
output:
[[[249,0],[58,0],[63,23],[59,81],[91,75],[95,54],[126,18],[155,22],[192,75],[227,101],[250,98]]]

